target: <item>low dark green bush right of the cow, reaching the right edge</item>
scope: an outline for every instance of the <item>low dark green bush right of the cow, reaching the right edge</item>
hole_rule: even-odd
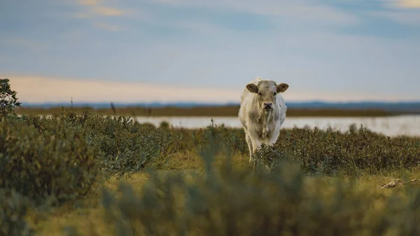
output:
[[[419,138],[390,138],[364,127],[345,133],[294,128],[281,130],[276,144],[262,148],[257,159],[265,165],[293,160],[307,173],[379,174],[419,167],[419,148]]]

